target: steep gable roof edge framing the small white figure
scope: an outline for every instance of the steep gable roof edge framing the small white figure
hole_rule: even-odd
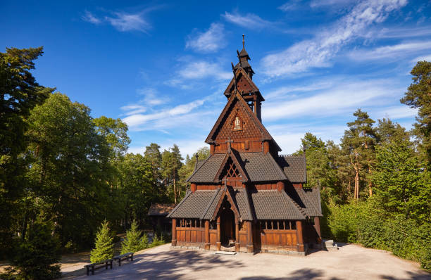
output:
[[[268,130],[266,130],[266,128],[262,125],[262,122],[258,119],[258,117],[256,117],[251,108],[247,105],[246,101],[244,101],[244,98],[242,98],[241,94],[232,94],[232,96],[230,96],[225,108],[223,108],[222,113],[215,122],[213,129],[211,129],[211,132],[206,137],[205,143],[214,143],[214,138],[217,135],[218,128],[226,122],[227,117],[229,116],[228,113],[230,113],[230,108],[234,106],[235,103],[239,103],[239,106],[242,106],[242,108],[246,112],[246,115],[250,118],[251,122],[256,125],[257,129],[259,129],[259,131],[261,132],[262,140],[273,141],[273,144],[275,144],[275,147],[278,149],[278,151],[281,151],[280,146],[278,146],[277,143],[274,141],[273,136],[271,136]]]

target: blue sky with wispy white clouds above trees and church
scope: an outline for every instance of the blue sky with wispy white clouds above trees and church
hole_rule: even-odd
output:
[[[431,61],[431,1],[202,3],[1,1],[1,51],[44,46],[39,83],[123,119],[133,153],[206,146],[242,34],[282,153],[306,132],[339,142],[357,108],[411,128],[416,110],[399,99],[416,61]]]

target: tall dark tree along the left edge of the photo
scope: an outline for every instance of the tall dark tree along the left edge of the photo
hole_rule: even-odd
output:
[[[42,47],[0,52],[0,257],[11,248],[19,230],[14,215],[23,210],[27,117],[54,91],[38,84],[31,73],[42,53]]]

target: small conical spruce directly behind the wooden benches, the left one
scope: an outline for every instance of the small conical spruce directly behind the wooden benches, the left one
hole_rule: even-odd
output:
[[[105,220],[96,234],[95,248],[90,254],[91,262],[100,262],[113,257],[113,234]]]

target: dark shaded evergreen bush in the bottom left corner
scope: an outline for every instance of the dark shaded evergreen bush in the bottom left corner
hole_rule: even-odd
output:
[[[27,237],[14,249],[8,275],[11,279],[56,279],[61,276],[58,239],[51,236],[52,225],[35,222]]]

